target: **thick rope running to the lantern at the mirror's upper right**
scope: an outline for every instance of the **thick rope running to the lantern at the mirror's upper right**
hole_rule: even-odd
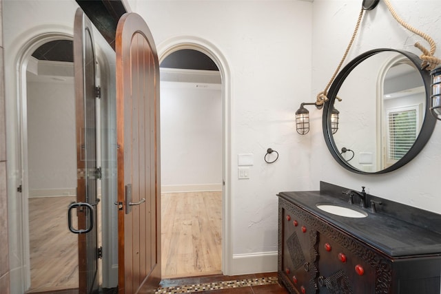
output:
[[[414,34],[418,34],[418,36],[421,36],[423,39],[427,41],[430,45],[430,51],[427,50],[427,48],[424,48],[419,42],[415,43],[415,47],[421,50],[422,54],[420,55],[420,59],[422,59],[421,68],[423,70],[433,70],[437,65],[441,63],[441,59],[436,58],[433,56],[435,54],[436,50],[436,44],[435,41],[429,36],[428,34],[425,34],[424,32],[421,32],[420,30],[417,30],[416,28],[413,28],[408,23],[404,22],[398,14],[393,10],[391,2],[389,0],[384,0],[384,3],[386,4],[387,8],[391,12],[392,16],[400,25],[402,25],[404,28],[407,28],[407,30],[413,32]]]

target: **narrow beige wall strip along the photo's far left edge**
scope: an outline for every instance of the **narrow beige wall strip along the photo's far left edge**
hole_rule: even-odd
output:
[[[3,87],[3,35],[1,35],[0,0],[0,289],[10,293],[8,255],[8,199],[6,195],[6,127],[5,94]]]

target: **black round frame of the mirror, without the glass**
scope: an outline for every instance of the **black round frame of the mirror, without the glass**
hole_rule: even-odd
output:
[[[334,138],[331,132],[331,111],[334,107],[334,102],[336,101],[338,90],[340,90],[342,83],[345,81],[345,78],[347,78],[347,76],[351,73],[351,71],[358,64],[360,64],[362,61],[365,61],[370,56],[373,56],[375,54],[384,51],[398,52],[406,56],[414,65],[416,65],[416,68],[418,68],[418,70],[420,71],[422,81],[424,83],[424,88],[426,90],[426,107],[424,112],[424,121],[422,122],[420,134],[418,134],[418,137],[416,138],[415,143],[413,143],[411,149],[409,149],[407,154],[405,154],[395,164],[380,171],[375,171],[375,172],[361,171],[360,169],[356,169],[352,165],[349,165],[349,163],[340,155],[340,152],[338,151],[338,147],[334,142]],[[413,158],[415,158],[418,155],[418,153],[420,153],[420,151],[429,141],[429,138],[433,133],[433,129],[435,128],[436,118],[434,118],[430,112],[430,105],[431,105],[430,93],[431,93],[430,72],[421,69],[421,59],[418,56],[416,56],[416,54],[402,50],[389,49],[389,48],[374,49],[367,51],[363,54],[360,54],[355,59],[350,61],[345,67],[343,67],[343,69],[338,73],[331,87],[329,87],[329,92],[328,92],[329,100],[325,103],[325,106],[323,107],[323,115],[322,115],[323,136],[325,136],[326,145],[329,151],[331,152],[332,156],[342,167],[345,167],[345,169],[352,171],[356,174],[385,174],[388,173],[389,171],[394,171],[402,167],[403,165],[406,165]]]

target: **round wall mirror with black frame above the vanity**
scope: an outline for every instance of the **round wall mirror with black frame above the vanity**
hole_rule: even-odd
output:
[[[322,125],[340,165],[358,174],[384,174],[405,165],[426,145],[436,119],[429,111],[430,73],[420,64],[413,53],[376,49],[353,59],[336,76]]]

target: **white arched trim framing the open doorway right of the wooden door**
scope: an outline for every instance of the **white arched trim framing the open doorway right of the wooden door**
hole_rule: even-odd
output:
[[[231,167],[232,167],[232,103],[231,103],[231,72],[225,56],[205,39],[196,36],[174,36],[157,46],[159,63],[169,54],[183,49],[203,52],[216,63],[222,78],[223,104],[223,217],[222,217],[222,271],[224,275],[232,275],[232,209],[231,209]]]

